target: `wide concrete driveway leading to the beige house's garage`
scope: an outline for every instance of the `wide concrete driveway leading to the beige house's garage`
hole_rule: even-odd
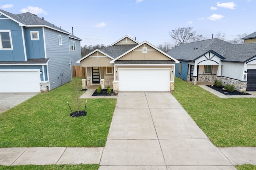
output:
[[[236,169],[169,92],[119,92],[99,170]]]

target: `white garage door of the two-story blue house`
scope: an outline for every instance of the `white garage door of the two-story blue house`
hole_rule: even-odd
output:
[[[40,93],[39,69],[1,69],[1,93]]]

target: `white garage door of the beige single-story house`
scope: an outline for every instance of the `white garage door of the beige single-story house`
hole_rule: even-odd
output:
[[[170,91],[170,69],[118,69],[119,91]]]

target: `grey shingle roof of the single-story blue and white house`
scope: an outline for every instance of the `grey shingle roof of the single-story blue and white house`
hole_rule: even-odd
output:
[[[256,55],[256,43],[237,44],[218,38],[181,44],[167,53],[178,60],[195,61],[207,52],[212,52],[222,61],[246,62]]]

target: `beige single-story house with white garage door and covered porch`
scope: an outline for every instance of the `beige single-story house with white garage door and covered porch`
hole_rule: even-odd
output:
[[[77,63],[86,67],[87,85],[110,86],[118,91],[173,91],[175,64],[154,45],[124,36],[104,49],[96,49]]]

